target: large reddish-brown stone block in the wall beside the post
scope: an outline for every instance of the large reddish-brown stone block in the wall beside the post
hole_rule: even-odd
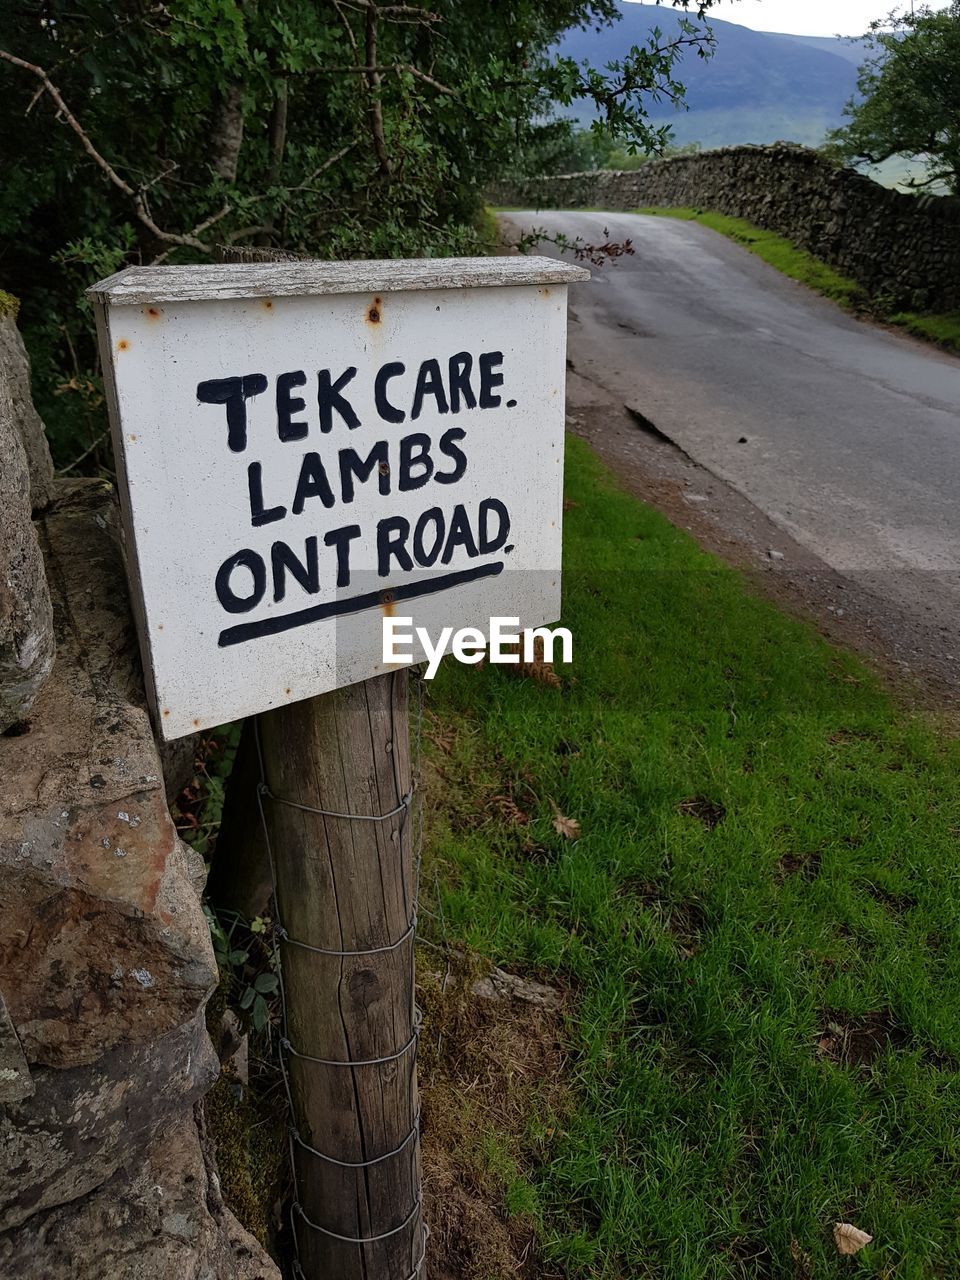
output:
[[[170,819],[109,486],[41,530],[59,655],[0,737],[0,991],[31,1064],[72,1068],[188,1021],[216,983],[202,861]]]

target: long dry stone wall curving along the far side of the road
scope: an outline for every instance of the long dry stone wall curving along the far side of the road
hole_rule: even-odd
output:
[[[652,161],[630,173],[573,173],[503,184],[517,209],[695,207],[749,221],[900,308],[960,307],[960,198],[905,195],[808,147],[724,147]]]

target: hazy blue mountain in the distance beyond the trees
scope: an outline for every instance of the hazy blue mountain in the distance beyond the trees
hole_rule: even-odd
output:
[[[666,38],[678,28],[676,9],[621,4],[622,18],[611,27],[571,31],[558,51],[595,67],[621,59],[631,45],[643,45],[654,27]],[[704,147],[742,142],[820,143],[842,123],[844,105],[856,90],[863,49],[847,40],[781,36],[751,31],[732,22],[710,19],[717,40],[713,58],[704,61],[691,50],[677,69],[686,86],[689,110],[652,104],[650,116],[669,123],[673,141]],[[584,124],[584,104],[573,115]]]

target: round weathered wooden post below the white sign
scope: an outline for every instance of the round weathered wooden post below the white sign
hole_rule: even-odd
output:
[[[411,791],[407,672],[268,712],[260,740],[278,919],[288,934],[280,946],[294,1124],[315,1151],[366,1162],[344,1167],[294,1142],[300,1202],[315,1224],[294,1212],[303,1274],[425,1280],[413,820],[403,805]],[[381,822],[310,812],[378,815],[398,806]],[[389,950],[324,955],[289,940],[332,952]],[[372,1236],[381,1239],[349,1243]]]

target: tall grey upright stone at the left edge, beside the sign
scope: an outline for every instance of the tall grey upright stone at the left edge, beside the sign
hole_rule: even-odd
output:
[[[20,433],[29,390],[24,402],[10,346],[19,334],[4,314],[6,297],[0,294],[0,733],[29,714],[54,662],[50,593]]]

